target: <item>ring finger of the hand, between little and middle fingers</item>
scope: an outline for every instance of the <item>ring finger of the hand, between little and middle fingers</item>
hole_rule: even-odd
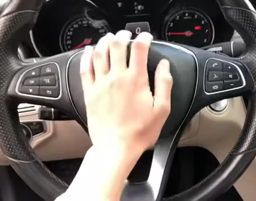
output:
[[[93,53],[93,66],[96,79],[101,79],[101,77],[106,75],[110,70],[109,45],[113,38],[115,38],[115,35],[108,33],[99,40],[95,47]]]

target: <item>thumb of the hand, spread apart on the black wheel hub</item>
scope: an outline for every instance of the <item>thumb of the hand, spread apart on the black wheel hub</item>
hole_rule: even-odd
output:
[[[170,114],[172,85],[170,63],[163,59],[159,62],[155,72],[154,110],[159,114],[165,113],[167,116]]]

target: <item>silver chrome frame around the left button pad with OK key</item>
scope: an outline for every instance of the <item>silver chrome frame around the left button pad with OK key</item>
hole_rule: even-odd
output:
[[[19,86],[20,86],[20,83],[21,83],[21,80],[23,79],[24,75],[28,72],[28,71],[31,71],[35,68],[39,68],[41,66],[46,66],[48,64],[55,64],[58,68],[58,72],[59,72],[59,85],[60,85],[60,95],[59,97],[57,98],[51,98],[51,97],[45,97],[45,96],[38,96],[38,95],[30,95],[30,94],[25,94],[25,93],[20,93],[19,92]],[[60,67],[59,65],[56,63],[56,62],[49,62],[49,63],[45,63],[45,64],[41,64],[39,66],[35,66],[33,68],[30,68],[30,69],[27,69],[26,71],[24,71],[21,75],[20,75],[20,78],[18,79],[18,82],[16,84],[16,89],[15,89],[15,92],[18,94],[18,95],[22,95],[22,96],[27,96],[27,97],[35,97],[35,98],[40,98],[40,99],[49,99],[49,100],[58,100],[60,99],[60,97],[62,96],[62,84],[61,84],[61,76],[60,76]]]

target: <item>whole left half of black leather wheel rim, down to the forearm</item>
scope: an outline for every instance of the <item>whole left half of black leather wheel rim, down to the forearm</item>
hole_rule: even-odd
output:
[[[0,146],[22,179],[41,197],[53,200],[67,185],[37,158],[22,133],[18,102],[7,96],[13,76],[26,67],[18,60],[18,44],[33,26],[43,2],[12,0],[0,16]]]

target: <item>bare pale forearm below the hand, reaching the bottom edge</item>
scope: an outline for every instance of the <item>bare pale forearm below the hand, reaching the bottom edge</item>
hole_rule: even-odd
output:
[[[133,150],[115,145],[92,146],[71,186],[57,201],[119,200],[125,180],[141,155]]]

